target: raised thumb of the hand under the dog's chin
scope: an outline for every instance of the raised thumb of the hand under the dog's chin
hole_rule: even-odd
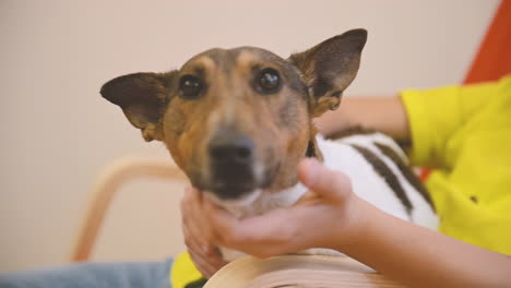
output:
[[[318,195],[333,201],[344,201],[352,193],[352,182],[346,175],[332,171],[313,158],[298,164],[298,178]]]

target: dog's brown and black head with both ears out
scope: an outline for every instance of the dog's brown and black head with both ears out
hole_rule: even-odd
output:
[[[311,120],[338,106],[366,38],[349,31],[288,59],[211,49],[180,70],[114,79],[100,93],[146,141],[163,141],[194,187],[236,200],[288,188],[299,159],[321,157]]]

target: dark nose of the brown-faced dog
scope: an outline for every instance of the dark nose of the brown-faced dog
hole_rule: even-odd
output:
[[[210,142],[209,153],[217,164],[247,165],[252,161],[253,142],[240,133],[224,132]]]

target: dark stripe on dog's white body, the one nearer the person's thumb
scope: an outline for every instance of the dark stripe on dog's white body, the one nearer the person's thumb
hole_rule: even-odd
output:
[[[360,153],[360,155],[364,156],[364,158],[366,158],[366,160],[372,166],[375,171],[383,178],[385,183],[394,192],[395,196],[401,201],[403,206],[405,206],[406,213],[409,215],[413,208],[412,202],[409,202],[408,196],[406,196],[397,177],[392,172],[387,164],[366,147],[357,144],[349,144],[349,146]]]

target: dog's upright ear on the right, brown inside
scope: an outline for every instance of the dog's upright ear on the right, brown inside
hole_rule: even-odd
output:
[[[366,40],[366,29],[352,29],[289,57],[309,87],[313,117],[338,107],[343,91],[357,74]]]

